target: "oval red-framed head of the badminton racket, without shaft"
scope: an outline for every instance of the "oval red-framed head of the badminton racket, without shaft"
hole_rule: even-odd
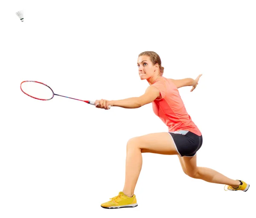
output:
[[[20,89],[24,94],[37,100],[51,100],[55,95],[50,86],[35,80],[21,82]]]

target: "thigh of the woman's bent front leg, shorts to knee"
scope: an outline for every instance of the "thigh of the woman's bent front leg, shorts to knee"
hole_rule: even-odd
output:
[[[168,132],[151,133],[131,138],[128,146],[138,146],[142,153],[150,152],[162,155],[177,155],[172,136]]]

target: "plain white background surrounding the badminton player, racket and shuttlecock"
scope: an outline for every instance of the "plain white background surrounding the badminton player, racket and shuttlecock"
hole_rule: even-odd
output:
[[[251,0],[0,3],[0,217],[255,218],[256,6]],[[24,10],[22,23],[16,11]],[[137,97],[137,56],[160,55],[203,134],[198,166],[251,184],[247,192],[186,176],[176,156],[143,154],[138,207],[100,207],[122,191],[129,138],[168,129],[151,104],[96,109],[29,98],[23,80],[82,100]]]

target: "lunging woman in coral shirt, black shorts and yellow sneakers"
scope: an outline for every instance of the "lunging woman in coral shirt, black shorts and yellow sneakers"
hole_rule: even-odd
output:
[[[198,85],[199,75],[195,80],[186,78],[172,80],[163,77],[161,60],[155,52],[142,52],[138,56],[139,75],[149,85],[144,95],[123,100],[96,100],[97,108],[108,109],[108,106],[122,108],[139,108],[152,103],[154,113],[166,124],[168,132],[152,133],[128,140],[126,148],[125,185],[111,201],[101,207],[121,208],[136,207],[137,200],[134,189],[142,168],[142,153],[151,152],[163,155],[178,155],[180,164],[186,175],[207,182],[227,185],[227,190],[249,188],[244,181],[227,178],[213,169],[198,167],[196,152],[200,149],[202,134],[186,112],[178,88],[192,86],[191,92]],[[226,190],[226,189],[225,189]]]

